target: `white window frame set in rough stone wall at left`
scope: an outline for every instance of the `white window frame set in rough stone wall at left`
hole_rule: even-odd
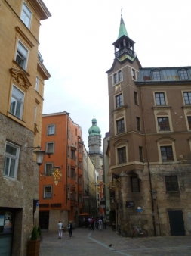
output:
[[[16,150],[16,154],[13,155],[13,154],[9,153],[7,151],[7,146],[14,148]],[[20,147],[18,145],[15,145],[14,143],[6,141],[5,142],[5,158],[4,158],[3,176],[5,176],[9,179],[12,179],[12,180],[17,180],[19,157],[20,157]],[[7,160],[8,160],[8,172],[6,172],[6,170],[5,170],[7,167]],[[14,160],[14,174],[10,175],[12,160]]]

